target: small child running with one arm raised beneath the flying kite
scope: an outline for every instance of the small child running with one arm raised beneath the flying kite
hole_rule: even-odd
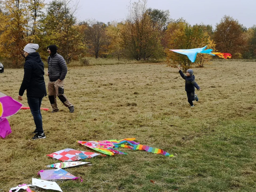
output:
[[[188,69],[186,71],[186,75],[182,73],[180,67],[178,67],[178,69],[181,77],[185,79],[185,91],[187,92],[187,101],[189,102],[191,107],[194,107],[193,101],[198,101],[198,97],[195,94],[195,88],[197,88],[197,90],[201,90],[201,88],[195,82],[195,76],[193,75],[192,69]]]

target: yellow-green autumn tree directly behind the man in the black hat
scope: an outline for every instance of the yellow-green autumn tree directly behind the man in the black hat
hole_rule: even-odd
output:
[[[85,42],[79,33],[77,18],[78,2],[71,5],[71,0],[53,0],[47,6],[42,31],[45,31],[44,42],[56,44],[58,53],[69,63],[78,59],[86,50]],[[46,48],[46,45],[45,45]]]

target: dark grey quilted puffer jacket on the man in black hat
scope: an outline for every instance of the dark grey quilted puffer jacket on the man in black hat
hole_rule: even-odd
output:
[[[67,74],[67,64],[65,59],[58,53],[48,57],[48,73],[50,81],[65,79]]]

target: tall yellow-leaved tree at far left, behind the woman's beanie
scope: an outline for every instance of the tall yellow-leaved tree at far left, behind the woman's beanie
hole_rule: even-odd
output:
[[[1,1],[0,56],[11,58],[15,66],[23,62],[26,39],[26,0]]]

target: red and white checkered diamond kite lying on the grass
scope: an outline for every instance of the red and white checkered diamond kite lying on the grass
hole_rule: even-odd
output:
[[[56,151],[54,153],[48,154],[47,156],[53,157],[55,159],[58,159],[64,162],[64,161],[78,161],[80,159],[92,158],[97,155],[106,156],[99,153],[78,151],[78,150],[69,149],[69,148]]]

